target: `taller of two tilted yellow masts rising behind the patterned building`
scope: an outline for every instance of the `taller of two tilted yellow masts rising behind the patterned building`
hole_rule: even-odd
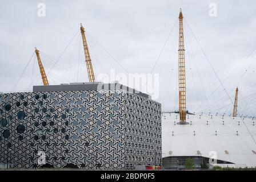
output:
[[[85,61],[86,61],[86,67],[87,67],[87,73],[89,77],[90,82],[95,82],[94,72],[93,72],[93,65],[91,64],[91,57],[88,49],[88,45],[85,38],[85,28],[83,28],[81,23],[81,34],[83,39],[83,50],[85,51]]]

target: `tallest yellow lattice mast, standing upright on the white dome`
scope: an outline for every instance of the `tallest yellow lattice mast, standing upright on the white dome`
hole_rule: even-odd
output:
[[[181,124],[186,123],[185,49],[181,9],[179,10],[179,121]]]

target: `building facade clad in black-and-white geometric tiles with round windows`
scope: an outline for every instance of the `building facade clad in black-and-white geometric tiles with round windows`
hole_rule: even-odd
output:
[[[45,156],[55,168],[161,165],[158,102],[125,89],[68,86],[0,94],[0,164],[43,167]]]

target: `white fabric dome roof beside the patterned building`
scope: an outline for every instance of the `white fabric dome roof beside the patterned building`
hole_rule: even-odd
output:
[[[211,115],[187,115],[187,117],[189,124],[179,125],[178,114],[162,114],[163,158],[200,156],[197,151],[202,156],[210,158],[210,152],[215,151],[218,160],[235,163],[237,167],[256,167],[256,154],[253,153],[256,151],[255,118],[222,117],[216,114],[213,117]],[[228,153],[226,154],[225,151]]]

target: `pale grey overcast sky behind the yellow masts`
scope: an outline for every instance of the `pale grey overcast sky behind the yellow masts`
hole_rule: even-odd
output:
[[[38,3],[45,4],[45,16],[38,16]],[[217,14],[210,16],[215,5]],[[111,68],[125,74],[158,73],[156,100],[163,111],[177,110],[177,18],[182,8],[188,109],[206,112],[210,105],[212,112],[223,107],[222,112],[231,113],[234,89],[239,86],[238,108],[241,114],[252,115],[255,100],[249,96],[255,93],[256,53],[245,57],[256,47],[255,7],[251,0],[1,1],[0,91],[31,90],[42,84],[34,56],[19,80],[35,46],[42,52],[46,73],[50,72],[50,84],[88,81],[79,35],[82,23],[96,76],[109,75]]]

